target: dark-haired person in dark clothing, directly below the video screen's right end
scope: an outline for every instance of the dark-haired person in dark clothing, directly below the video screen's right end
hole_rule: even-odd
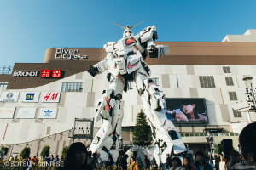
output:
[[[210,165],[206,160],[204,153],[202,151],[197,151],[195,153],[197,161],[195,162],[195,170],[213,170],[212,165]]]

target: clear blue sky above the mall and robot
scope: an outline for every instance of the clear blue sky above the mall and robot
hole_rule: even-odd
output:
[[[123,29],[156,26],[158,41],[220,42],[255,29],[255,0],[0,0],[0,65],[42,63],[46,48],[102,48]]]

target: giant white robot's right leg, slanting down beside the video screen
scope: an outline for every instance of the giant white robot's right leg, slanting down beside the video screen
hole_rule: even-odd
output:
[[[154,143],[160,141],[160,147],[166,147],[160,155],[161,162],[165,163],[166,154],[179,156],[180,153],[183,153],[187,149],[172,121],[166,118],[166,95],[162,89],[156,86],[154,81],[148,78],[146,72],[143,72],[141,69],[137,71],[135,81],[143,102],[143,110],[152,130]],[[154,157],[159,164],[158,145],[156,145],[156,149],[154,150]]]

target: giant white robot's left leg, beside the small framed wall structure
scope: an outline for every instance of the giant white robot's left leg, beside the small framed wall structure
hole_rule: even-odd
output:
[[[96,121],[102,118],[103,124],[90,144],[92,152],[98,151],[100,161],[108,161],[108,155],[113,155],[113,161],[118,158],[119,139],[121,139],[121,122],[124,116],[124,102],[120,101],[121,92],[116,93],[115,87],[122,86],[119,79],[113,79],[114,87],[103,90],[102,98],[96,103]]]

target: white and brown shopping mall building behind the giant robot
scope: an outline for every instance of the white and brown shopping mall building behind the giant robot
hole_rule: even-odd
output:
[[[168,45],[169,53],[160,59],[146,59],[151,78],[163,88],[166,98],[201,99],[207,122],[175,122],[189,150],[208,152],[207,135],[216,145],[224,138],[233,139],[238,150],[242,127],[256,122],[256,113],[232,109],[244,100],[247,83],[243,77],[256,76],[256,30],[244,35],[228,35],[222,42],[157,42]],[[97,99],[108,88],[107,72],[91,77],[88,65],[106,57],[103,48],[48,48],[44,63],[15,63],[12,71],[0,75],[0,144],[9,154],[25,147],[31,156],[39,155],[45,145],[50,153],[61,155],[71,144],[70,129],[75,118],[95,116]],[[43,56],[42,56],[43,59]],[[2,72],[2,71],[1,71]],[[256,79],[253,79],[256,84]],[[132,144],[136,115],[141,99],[134,82],[123,94],[125,116],[123,144]],[[172,104],[170,104],[172,105]],[[169,104],[167,103],[167,107]],[[170,106],[171,107],[171,106]],[[172,108],[173,109],[173,108]],[[174,108],[178,109],[178,108]],[[93,133],[102,126],[94,122]],[[74,139],[90,144],[90,139]]]

